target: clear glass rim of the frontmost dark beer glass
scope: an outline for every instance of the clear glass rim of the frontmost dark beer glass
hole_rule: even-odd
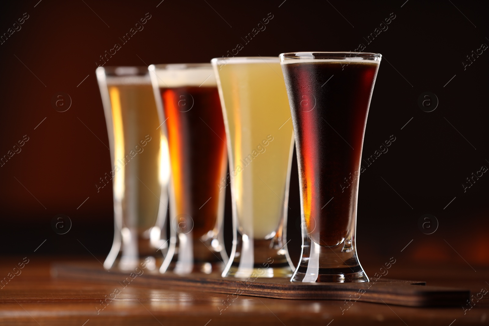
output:
[[[352,51],[301,51],[301,52],[285,52],[279,55],[280,61],[286,60],[355,60],[361,58],[363,60],[380,61],[382,55],[374,52],[352,52]],[[359,60],[359,59],[357,59]]]

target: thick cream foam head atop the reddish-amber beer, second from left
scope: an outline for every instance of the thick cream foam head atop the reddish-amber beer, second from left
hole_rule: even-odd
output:
[[[216,87],[210,64],[150,65],[151,78],[158,87]]]

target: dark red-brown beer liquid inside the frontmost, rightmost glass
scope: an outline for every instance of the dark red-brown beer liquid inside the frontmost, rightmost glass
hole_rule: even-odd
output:
[[[334,246],[355,228],[358,170],[378,64],[317,60],[288,63],[283,70],[307,233],[320,245]]]

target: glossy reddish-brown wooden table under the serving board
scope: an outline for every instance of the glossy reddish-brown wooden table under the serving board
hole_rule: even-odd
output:
[[[103,310],[112,282],[53,279],[50,263],[59,258],[31,258],[0,288],[0,325],[484,325],[489,323],[489,293],[470,310],[410,308],[341,301],[282,300],[239,296],[226,307],[225,294],[141,287],[137,279]],[[2,258],[0,277],[7,277],[22,259]],[[93,261],[93,258],[90,260]],[[364,264],[367,274],[376,264]],[[19,273],[16,270],[16,273]],[[11,274],[12,275],[12,274]],[[429,285],[489,289],[489,269],[467,265],[415,266],[397,264],[390,278],[427,281]],[[106,297],[107,296],[107,297]],[[223,309],[226,307],[225,309]],[[467,305],[466,308],[469,306]],[[451,324],[453,323],[453,324]]]

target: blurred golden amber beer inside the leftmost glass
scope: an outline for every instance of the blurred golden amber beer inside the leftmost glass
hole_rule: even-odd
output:
[[[123,226],[136,228],[141,235],[156,225],[161,186],[168,182],[164,151],[168,145],[158,128],[149,77],[108,77],[107,86],[114,133],[114,197],[122,202]]]

